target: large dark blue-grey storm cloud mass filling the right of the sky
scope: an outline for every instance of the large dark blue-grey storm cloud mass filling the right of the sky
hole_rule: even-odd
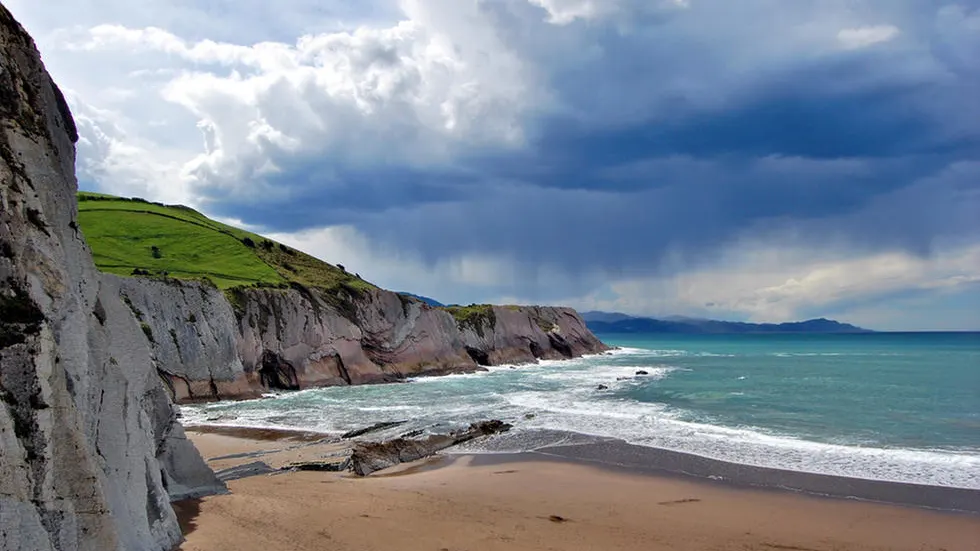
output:
[[[519,151],[438,168],[279,163],[268,184],[283,199],[216,195],[212,210],[277,231],[351,224],[430,261],[508,255],[529,280],[542,264],[663,271],[670,255],[697,263],[746,235],[917,253],[976,239],[980,128],[964,121],[980,120],[980,73],[960,49],[974,39],[937,34],[935,7],[909,6],[922,19],[893,14],[909,25],[896,45],[789,52],[771,66],[772,33],[740,50],[730,45],[756,37],[712,42],[667,16],[631,33],[597,24],[582,40],[599,40],[598,53],[549,69],[561,108],[530,120]],[[541,39],[510,33],[553,61],[528,50]],[[745,76],[728,67],[753,55],[763,61]]]

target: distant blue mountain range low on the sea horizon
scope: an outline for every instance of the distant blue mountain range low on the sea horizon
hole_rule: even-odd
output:
[[[747,323],[719,321],[684,316],[643,318],[619,312],[582,312],[586,325],[594,333],[872,333],[864,329],[825,318],[788,323]]]

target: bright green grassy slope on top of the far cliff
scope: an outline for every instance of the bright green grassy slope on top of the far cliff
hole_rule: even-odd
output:
[[[103,272],[208,279],[221,289],[290,283],[374,287],[342,267],[182,205],[79,192],[78,222]]]

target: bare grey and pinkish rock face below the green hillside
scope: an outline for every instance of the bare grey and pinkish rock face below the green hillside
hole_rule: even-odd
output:
[[[194,281],[105,277],[140,320],[177,401],[390,382],[606,349],[568,308],[454,311],[376,288],[222,292]]]

